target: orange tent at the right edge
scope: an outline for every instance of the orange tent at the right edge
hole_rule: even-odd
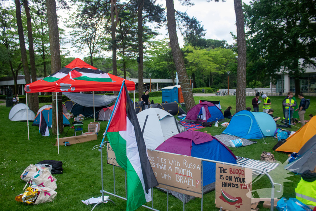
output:
[[[279,146],[276,151],[298,152],[314,135],[316,135],[316,116],[287,138],[286,142]]]

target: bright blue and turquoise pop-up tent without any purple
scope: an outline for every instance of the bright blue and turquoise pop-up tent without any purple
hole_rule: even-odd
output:
[[[267,113],[243,110],[230,119],[223,133],[244,139],[261,139],[273,136],[275,131],[276,123]]]

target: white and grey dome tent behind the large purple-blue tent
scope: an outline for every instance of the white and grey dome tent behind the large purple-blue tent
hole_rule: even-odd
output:
[[[156,149],[173,135],[186,131],[173,115],[162,109],[145,109],[137,114],[147,149]]]

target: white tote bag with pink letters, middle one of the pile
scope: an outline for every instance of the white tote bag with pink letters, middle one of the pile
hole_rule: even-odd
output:
[[[32,181],[39,187],[50,188],[52,190],[57,188],[57,179],[52,176],[48,169],[45,169],[44,171],[37,171],[33,175]]]

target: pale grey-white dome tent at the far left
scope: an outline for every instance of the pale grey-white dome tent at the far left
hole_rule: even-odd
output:
[[[27,111],[28,110],[28,111]],[[27,112],[28,120],[34,121],[35,114],[30,108],[27,107],[24,103],[19,103],[13,106],[9,113],[9,120],[11,121],[27,121]]]

